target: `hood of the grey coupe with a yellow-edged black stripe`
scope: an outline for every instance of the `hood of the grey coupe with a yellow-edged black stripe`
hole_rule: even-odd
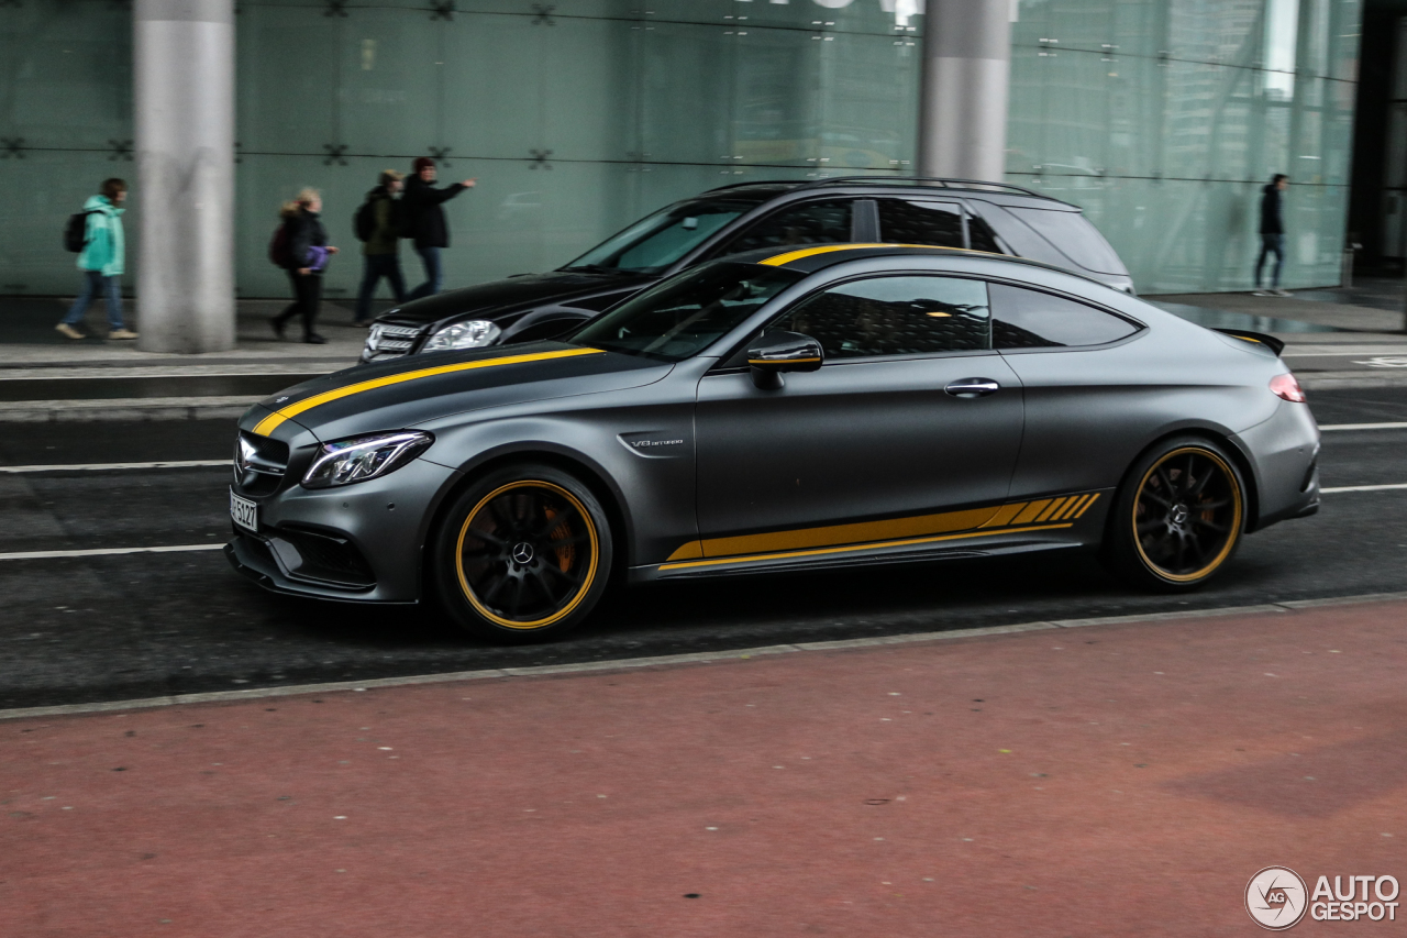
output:
[[[250,407],[239,428],[303,446],[487,407],[640,387],[671,368],[566,342],[436,352],[295,384]]]

